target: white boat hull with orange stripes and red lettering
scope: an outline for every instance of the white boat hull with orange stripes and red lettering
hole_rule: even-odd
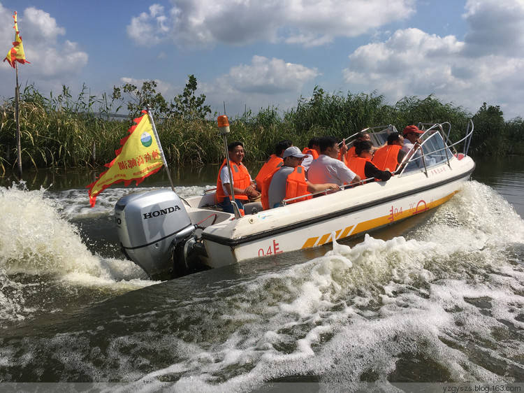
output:
[[[247,259],[312,248],[364,234],[435,208],[453,197],[474,169],[470,157],[423,171],[293,203],[207,227],[205,261],[216,268]],[[209,197],[208,197],[209,198]],[[192,201],[194,204],[196,201]],[[189,215],[200,208],[189,208]]]

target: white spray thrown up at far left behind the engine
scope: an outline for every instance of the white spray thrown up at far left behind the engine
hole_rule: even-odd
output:
[[[37,291],[47,292],[51,304],[61,300],[53,293],[74,296],[68,287],[125,292],[154,283],[132,262],[90,252],[66,213],[46,190],[29,191],[23,183],[0,187],[0,326],[50,311],[42,308]],[[28,303],[29,294],[36,303]]]

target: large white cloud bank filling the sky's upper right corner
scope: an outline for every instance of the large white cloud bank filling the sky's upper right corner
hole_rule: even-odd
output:
[[[343,70],[344,80],[350,90],[377,90],[393,102],[435,94],[472,113],[486,101],[500,105],[507,118],[524,115],[524,58],[516,48],[524,24],[515,18],[521,8],[522,1],[468,1],[465,18],[470,30],[465,41],[419,29],[398,30],[386,41],[354,50]],[[510,27],[506,38],[495,31],[496,45],[491,38],[483,41],[495,20]]]

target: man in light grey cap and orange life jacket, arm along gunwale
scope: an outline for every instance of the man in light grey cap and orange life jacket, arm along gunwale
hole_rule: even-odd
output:
[[[310,199],[314,192],[325,190],[340,190],[334,183],[314,184],[305,178],[305,169],[300,165],[306,155],[300,152],[296,146],[287,148],[284,151],[284,165],[270,179],[268,189],[268,199],[270,208],[282,206],[284,199],[296,198],[307,195],[304,198],[290,201],[295,203]]]

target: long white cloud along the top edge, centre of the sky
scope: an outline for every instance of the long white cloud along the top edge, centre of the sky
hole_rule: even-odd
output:
[[[171,40],[177,45],[282,41],[317,46],[413,13],[414,0],[173,0],[167,13],[154,4],[149,13],[133,17],[127,32],[140,45]]]

